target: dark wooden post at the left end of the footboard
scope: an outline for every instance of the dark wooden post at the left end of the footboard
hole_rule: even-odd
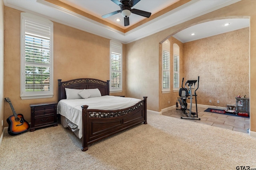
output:
[[[88,140],[89,140],[89,136],[87,133],[87,125],[88,125],[88,121],[89,121],[89,113],[87,112],[88,106],[84,105],[81,106],[82,107],[82,151],[86,151],[88,150]],[[80,129],[81,130],[81,129]]]

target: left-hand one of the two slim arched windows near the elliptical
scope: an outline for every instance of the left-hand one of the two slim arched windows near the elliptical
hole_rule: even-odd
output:
[[[170,41],[162,43],[162,92],[170,92]]]

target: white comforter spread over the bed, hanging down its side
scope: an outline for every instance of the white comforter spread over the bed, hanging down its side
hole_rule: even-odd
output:
[[[57,106],[57,113],[78,125],[78,137],[82,138],[82,107],[88,105],[88,109],[116,110],[125,109],[138,103],[140,99],[123,98],[117,96],[101,96],[87,99],[63,99]]]

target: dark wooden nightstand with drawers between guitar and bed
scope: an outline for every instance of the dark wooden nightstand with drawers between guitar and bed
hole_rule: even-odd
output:
[[[36,128],[45,126],[58,126],[57,122],[57,103],[47,102],[30,104],[31,107],[31,127],[30,132]]]

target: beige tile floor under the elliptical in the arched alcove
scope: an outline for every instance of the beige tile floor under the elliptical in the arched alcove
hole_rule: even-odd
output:
[[[178,107],[180,108],[180,107]],[[184,119],[188,121],[195,121],[198,123],[204,123],[206,125],[210,126],[216,126],[221,127],[224,129],[229,129],[232,131],[238,131],[242,133],[247,133],[247,129],[250,128],[250,119],[246,117],[237,117],[237,116],[231,116],[231,115],[222,115],[218,113],[210,113],[205,112],[207,108],[204,107],[197,107],[198,108],[198,117],[201,120],[190,120],[190,119]],[[192,107],[192,111],[196,111],[196,107]],[[170,117],[176,117],[179,118],[186,117],[186,114],[183,113],[181,109],[176,110],[170,109],[168,111],[162,112],[162,115],[170,116]]]

